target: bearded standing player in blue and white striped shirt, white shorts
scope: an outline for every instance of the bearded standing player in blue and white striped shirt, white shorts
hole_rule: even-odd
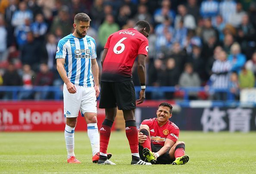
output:
[[[100,152],[96,99],[100,93],[99,67],[95,40],[86,35],[90,21],[85,13],[75,15],[74,33],[59,40],[56,51],[57,70],[64,81],[65,140],[69,163],[81,163],[74,153],[74,133],[79,111],[87,122],[93,162],[97,162]]]

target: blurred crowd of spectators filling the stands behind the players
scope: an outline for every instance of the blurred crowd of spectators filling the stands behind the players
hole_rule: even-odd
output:
[[[72,33],[73,18],[87,13],[87,35],[97,43],[97,61],[107,37],[151,24],[147,85],[240,89],[255,87],[256,2],[254,0],[0,0],[0,85],[61,86],[56,71],[58,41]],[[134,85],[140,85],[136,63]],[[207,91],[207,90],[206,90]],[[152,92],[172,99],[182,92]],[[0,98],[10,98],[2,94]],[[22,92],[20,99],[49,99]],[[227,99],[226,93],[190,92],[190,99]]]

